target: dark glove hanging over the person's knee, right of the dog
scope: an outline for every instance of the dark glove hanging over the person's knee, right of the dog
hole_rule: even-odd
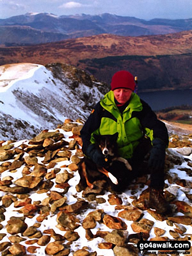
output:
[[[164,167],[165,164],[165,143],[160,139],[152,141],[153,147],[148,160],[148,167],[158,170]]]

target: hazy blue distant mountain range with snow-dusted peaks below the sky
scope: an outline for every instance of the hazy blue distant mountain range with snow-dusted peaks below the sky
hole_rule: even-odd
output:
[[[192,30],[192,19],[142,20],[113,14],[56,16],[27,13],[0,19],[0,44],[40,44],[98,34],[141,36]]]

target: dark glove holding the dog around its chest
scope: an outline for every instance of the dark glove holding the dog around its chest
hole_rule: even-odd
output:
[[[104,154],[95,144],[90,144],[88,146],[86,155],[90,157],[95,164],[98,164],[101,167],[108,167],[112,160],[112,157],[104,156]],[[105,159],[107,159],[107,161]]]

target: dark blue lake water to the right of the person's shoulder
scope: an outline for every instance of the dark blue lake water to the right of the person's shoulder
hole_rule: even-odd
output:
[[[159,91],[159,92],[138,92],[138,96],[156,110],[172,106],[192,105],[192,89]]]

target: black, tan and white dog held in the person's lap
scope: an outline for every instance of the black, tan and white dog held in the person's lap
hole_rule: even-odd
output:
[[[104,154],[104,160],[108,162],[110,158],[111,161],[109,161],[110,164],[108,167],[104,168],[98,164],[95,164],[91,159],[84,156],[83,161],[80,162],[79,173],[81,179],[84,179],[89,188],[94,187],[92,182],[101,178],[101,174],[104,174],[105,177],[108,177],[115,185],[118,184],[118,179],[113,174],[111,174],[110,171],[108,171],[110,170],[113,161],[123,162],[129,171],[132,170],[128,161],[123,157],[118,156],[117,138],[118,133],[113,135],[94,135],[98,149],[101,150],[102,154]]]

